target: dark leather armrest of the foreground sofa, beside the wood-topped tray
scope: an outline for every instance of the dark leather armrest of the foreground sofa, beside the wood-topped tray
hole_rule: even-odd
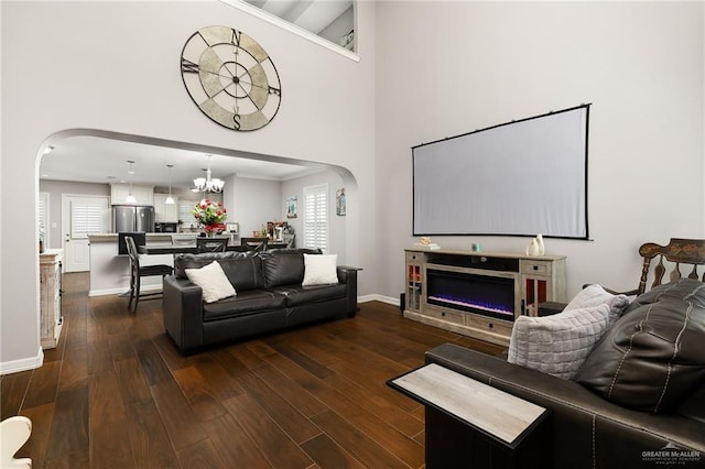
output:
[[[705,424],[693,419],[620,407],[576,382],[451,343],[427,351],[425,361],[552,410],[552,465],[546,467],[642,467],[644,451],[669,443],[705,452]]]

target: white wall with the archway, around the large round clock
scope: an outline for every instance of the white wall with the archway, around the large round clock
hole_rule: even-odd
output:
[[[358,8],[357,63],[218,1],[1,2],[2,174],[0,176],[0,367],[39,364],[39,254],[35,217],[18,217],[12,203],[33,206],[40,150],[52,135],[98,129],[218,149],[338,165],[372,205],[373,6]],[[205,117],[188,97],[180,57],[198,29],[225,24],[247,32],[273,57],[282,81],[274,120],[254,132],[234,132]],[[325,74],[321,73],[325,70]],[[350,90],[354,90],[352,92]],[[368,266],[358,227],[373,229],[372,211],[351,210],[346,247]],[[360,294],[375,285],[360,276]]]

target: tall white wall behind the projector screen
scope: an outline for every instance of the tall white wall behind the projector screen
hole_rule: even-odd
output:
[[[636,287],[646,241],[705,238],[703,4],[377,3],[377,292],[402,291],[415,241],[411,146],[583,102],[593,241],[545,241],[567,255],[568,295]],[[529,239],[434,241],[516,252]]]

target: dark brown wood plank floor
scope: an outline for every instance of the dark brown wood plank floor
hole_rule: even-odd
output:
[[[64,275],[64,329],[40,369],[2,377],[2,418],[33,430],[34,468],[345,468],[424,465],[423,407],[384,382],[456,342],[497,346],[365,303],[357,317],[184,358],[161,301],[137,314]]]

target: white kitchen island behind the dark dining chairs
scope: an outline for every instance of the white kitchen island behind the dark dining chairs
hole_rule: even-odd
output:
[[[149,247],[195,247],[198,233],[147,233]],[[88,234],[90,285],[88,296],[122,294],[130,290],[130,258],[118,253],[118,233]],[[173,255],[142,255],[142,265],[173,264]],[[162,279],[143,277],[142,292],[160,291]]]

